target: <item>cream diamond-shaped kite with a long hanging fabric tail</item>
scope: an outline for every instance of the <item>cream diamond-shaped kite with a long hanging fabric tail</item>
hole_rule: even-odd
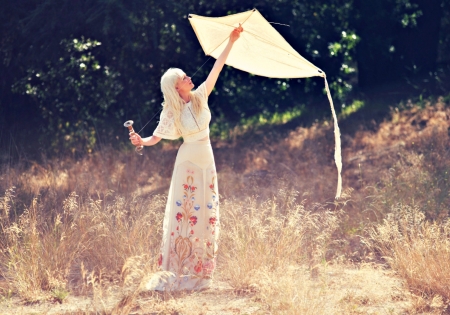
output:
[[[342,190],[341,139],[333,100],[325,72],[303,58],[278,33],[258,10],[223,17],[189,15],[189,22],[207,56],[218,58],[227,45],[231,31],[241,25],[244,32],[233,45],[226,64],[251,74],[269,78],[322,77],[334,120],[334,161],[338,170],[336,199]]]

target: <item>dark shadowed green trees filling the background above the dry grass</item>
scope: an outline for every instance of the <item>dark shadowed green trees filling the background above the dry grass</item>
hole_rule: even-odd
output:
[[[17,152],[25,143],[76,153],[126,140],[125,120],[133,119],[139,130],[159,111],[159,79],[167,68],[195,73],[199,85],[212,67],[188,13],[223,16],[256,7],[326,72],[338,104],[351,103],[361,86],[427,71],[427,80],[444,86],[445,75],[433,69],[448,62],[450,10],[448,0],[437,2],[6,1],[0,12],[0,123],[8,129],[1,129],[0,147],[11,146],[13,135]],[[434,15],[436,8],[440,15]],[[427,47],[427,55],[411,50],[413,42]],[[322,90],[320,78],[274,80],[226,67],[210,106],[230,126],[303,105],[328,115]]]

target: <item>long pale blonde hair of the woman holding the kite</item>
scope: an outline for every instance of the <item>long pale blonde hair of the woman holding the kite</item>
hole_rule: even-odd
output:
[[[178,94],[175,86],[177,84],[177,80],[182,79],[183,76],[184,72],[181,69],[170,68],[161,77],[161,91],[164,97],[162,106],[172,110],[174,115],[175,127],[178,130],[181,130],[181,111],[185,102],[181,98],[180,94]],[[196,117],[198,117],[198,114],[200,113],[202,107],[200,98],[191,91],[190,99],[192,103],[192,109],[194,110],[194,119],[197,119]]]

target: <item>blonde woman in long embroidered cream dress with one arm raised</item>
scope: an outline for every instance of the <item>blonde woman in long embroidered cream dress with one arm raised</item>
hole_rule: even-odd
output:
[[[209,140],[208,96],[242,27],[234,29],[208,78],[195,91],[182,70],[171,68],[161,78],[164,95],[160,122],[153,136],[130,133],[135,146],[151,146],[183,137],[178,150],[164,215],[158,264],[163,272],[147,290],[199,290],[211,284],[219,236],[219,194]]]

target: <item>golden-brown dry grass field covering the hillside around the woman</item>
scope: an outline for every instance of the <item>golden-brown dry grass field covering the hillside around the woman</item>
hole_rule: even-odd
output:
[[[91,301],[67,314],[444,312],[449,117],[439,101],[394,110],[375,131],[361,128],[350,137],[344,126],[347,189],[339,203],[327,122],[288,136],[254,130],[213,144],[222,195],[221,300],[211,292],[142,293],[156,268],[176,144],[147,148],[143,157],[105,149],[76,161],[2,165],[0,295],[28,303]],[[345,267],[349,259],[371,260],[370,250],[385,257],[415,298],[401,283],[383,289],[347,283],[383,277],[380,268],[356,274]],[[389,291],[394,286],[402,293]],[[243,302],[208,304],[227,299]]]

